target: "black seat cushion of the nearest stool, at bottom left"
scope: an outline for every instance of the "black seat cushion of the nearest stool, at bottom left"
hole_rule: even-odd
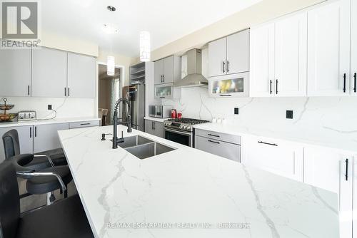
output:
[[[94,235],[81,200],[76,195],[24,214],[16,237],[91,238]]]

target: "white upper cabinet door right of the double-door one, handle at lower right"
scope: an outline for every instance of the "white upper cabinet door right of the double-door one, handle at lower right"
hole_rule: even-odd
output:
[[[308,95],[350,93],[351,0],[308,11]]]

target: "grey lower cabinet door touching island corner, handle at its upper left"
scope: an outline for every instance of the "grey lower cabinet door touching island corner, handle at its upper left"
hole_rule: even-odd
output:
[[[69,123],[34,125],[34,153],[61,148],[58,130],[68,130]]]

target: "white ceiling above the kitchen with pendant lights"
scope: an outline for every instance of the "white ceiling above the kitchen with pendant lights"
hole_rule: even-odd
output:
[[[44,0],[42,30],[92,41],[99,50],[139,56],[139,32],[151,32],[152,49],[241,11],[261,0]],[[106,6],[115,6],[110,12]],[[115,24],[119,33],[102,31]]]

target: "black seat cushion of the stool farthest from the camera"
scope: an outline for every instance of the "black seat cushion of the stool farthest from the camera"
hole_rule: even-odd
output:
[[[61,148],[54,150],[46,150],[43,152],[38,152],[34,155],[47,155],[54,162],[55,166],[67,165],[66,156],[64,155],[64,150]],[[26,167],[29,167],[33,170],[43,170],[46,167],[51,167],[49,160],[46,157],[34,157]]]

